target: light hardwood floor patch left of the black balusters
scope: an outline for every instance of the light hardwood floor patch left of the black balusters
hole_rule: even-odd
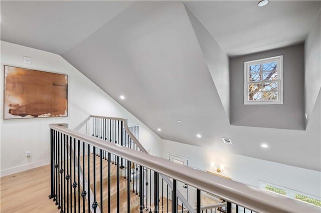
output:
[[[50,194],[50,166],[1,177],[1,212],[59,212]]]

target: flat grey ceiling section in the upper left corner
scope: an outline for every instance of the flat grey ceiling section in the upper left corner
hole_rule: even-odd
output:
[[[61,54],[133,2],[2,0],[1,39]]]

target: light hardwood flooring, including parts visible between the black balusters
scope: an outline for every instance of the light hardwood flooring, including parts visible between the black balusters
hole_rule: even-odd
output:
[[[99,171],[100,160],[96,156],[96,171]],[[80,157],[82,162],[82,157]],[[93,162],[93,155],[90,156],[90,162]],[[85,163],[87,164],[87,157],[85,157]],[[107,173],[108,160],[103,161],[103,172]],[[110,163],[111,168],[111,188],[110,188],[110,201],[111,201],[111,212],[116,212],[117,203],[117,193],[116,193],[116,165]],[[93,180],[93,168],[90,169],[91,180]],[[85,174],[87,176],[87,169],[85,169]],[[97,177],[98,180],[99,177]],[[120,212],[127,211],[127,180],[124,179],[124,169],[120,169]],[[1,205],[0,211],[2,213],[10,212],[60,212],[57,206],[54,204],[53,199],[49,199],[48,195],[50,193],[50,165],[41,166],[38,168],[30,169],[27,171],[22,171],[19,173],[11,174],[8,176],[1,177],[0,179],[1,187]],[[97,201],[100,206],[100,182],[97,181]],[[108,209],[107,206],[107,178],[103,178],[103,212]],[[132,183],[130,183],[130,188],[132,190]],[[93,190],[93,185],[91,185]],[[82,189],[81,189],[82,190]],[[78,196],[78,194],[77,194]],[[162,200],[163,198],[163,200]],[[166,197],[160,197],[159,205],[164,203],[164,212],[167,212],[167,199]],[[212,199],[205,199],[202,196],[202,204],[208,204],[215,202]],[[145,203],[145,201],[144,201]],[[74,204],[74,203],[73,203]],[[130,212],[138,212],[139,196],[135,193],[130,192]],[[153,205],[153,204],[152,204]],[[169,211],[171,209],[171,200],[169,200]],[[85,202],[85,209],[88,211],[88,203]],[[78,209],[78,208],[77,208]],[[81,201],[82,209],[82,201]],[[179,206],[181,209],[181,206]]]

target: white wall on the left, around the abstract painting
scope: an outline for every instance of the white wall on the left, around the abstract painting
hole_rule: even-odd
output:
[[[32,57],[32,64],[24,64],[23,56]],[[68,116],[4,120],[4,65],[68,74]],[[128,118],[129,125],[139,125],[139,141],[146,150],[161,155],[158,135],[60,55],[1,41],[0,82],[1,176],[48,164],[48,124],[65,122],[69,128],[85,133],[85,120],[91,114]],[[27,158],[25,151],[31,151],[31,157]]]

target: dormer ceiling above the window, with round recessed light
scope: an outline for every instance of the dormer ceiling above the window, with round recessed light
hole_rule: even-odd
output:
[[[319,0],[184,1],[229,56],[304,41],[320,9]],[[218,21],[219,20],[219,21]]]

